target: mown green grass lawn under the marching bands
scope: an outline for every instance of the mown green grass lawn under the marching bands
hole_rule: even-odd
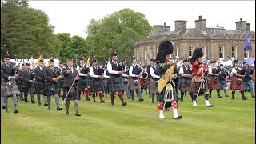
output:
[[[210,98],[214,107],[210,108],[202,96],[197,107],[192,106],[190,96],[184,97],[178,107],[180,120],[173,119],[172,110],[164,113],[166,119],[159,119],[158,102],[152,104],[145,94],[144,102],[136,96],[135,101],[125,98],[128,104],[124,107],[117,95],[114,106],[110,106],[110,95],[105,103],[98,97],[96,103],[88,102],[82,95],[81,117],[74,116],[74,102],[70,102],[70,115],[65,114],[65,106],[57,111],[54,98],[50,111],[37,101],[18,101],[19,112],[14,114],[9,98],[10,113],[1,110],[1,143],[255,143],[255,98],[246,93],[249,99],[243,101],[237,92],[231,100],[228,94],[219,99],[214,90]]]

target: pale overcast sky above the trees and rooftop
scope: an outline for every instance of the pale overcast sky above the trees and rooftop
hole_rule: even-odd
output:
[[[222,26],[235,30],[235,22],[250,23],[255,31],[255,1],[30,1],[30,7],[43,10],[55,26],[54,34],[70,33],[86,38],[86,26],[90,19],[102,19],[115,11],[130,8],[145,15],[150,25],[170,26],[175,20],[186,20],[187,28],[194,27],[199,15],[207,19],[207,26]]]

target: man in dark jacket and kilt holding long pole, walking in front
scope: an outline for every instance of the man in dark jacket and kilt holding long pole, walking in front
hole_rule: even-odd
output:
[[[78,112],[78,70],[73,67],[73,59],[66,60],[66,69],[63,70],[64,85],[62,100],[66,100],[66,115],[70,114],[70,100],[74,101],[75,116],[81,116]],[[72,86],[73,84],[73,86]],[[72,87],[71,87],[72,86]],[[67,95],[68,94],[68,95]]]

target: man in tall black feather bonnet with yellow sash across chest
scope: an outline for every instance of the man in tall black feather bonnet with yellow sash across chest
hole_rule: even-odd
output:
[[[174,119],[182,118],[182,115],[178,115],[177,109],[178,94],[176,93],[176,84],[178,70],[171,59],[173,50],[173,42],[170,42],[169,40],[163,41],[159,44],[156,60],[157,69],[160,73],[160,80],[158,82],[158,100],[160,103],[157,106],[160,119],[165,118],[163,110],[169,111],[170,108],[173,110]]]

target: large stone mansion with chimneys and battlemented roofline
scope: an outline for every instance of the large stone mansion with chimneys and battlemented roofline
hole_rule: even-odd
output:
[[[250,23],[246,21],[235,22],[236,30],[226,30],[223,27],[206,27],[206,19],[195,21],[195,28],[186,28],[186,21],[177,20],[174,31],[170,31],[170,26],[155,25],[153,34],[148,38],[139,39],[134,42],[134,56],[142,64],[148,64],[149,58],[156,56],[159,43],[168,39],[174,42],[175,58],[190,57],[193,50],[202,47],[204,54],[210,60],[227,61],[232,56],[243,58],[255,58],[255,32],[250,31]],[[246,40],[246,34],[250,34],[252,50],[246,51],[243,43]]]

